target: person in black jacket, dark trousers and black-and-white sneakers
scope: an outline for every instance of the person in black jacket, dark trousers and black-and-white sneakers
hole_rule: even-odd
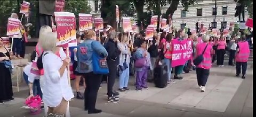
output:
[[[115,84],[117,65],[119,64],[119,55],[121,51],[117,48],[118,33],[113,31],[109,33],[109,40],[106,44],[106,50],[108,51],[107,63],[109,68],[108,74],[108,102],[117,103],[119,97],[117,93],[113,93],[113,86]]]

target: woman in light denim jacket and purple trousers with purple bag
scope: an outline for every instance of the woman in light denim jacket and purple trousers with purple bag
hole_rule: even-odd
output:
[[[141,40],[140,48],[138,48],[134,53],[134,59],[146,58],[146,64],[142,68],[135,68],[136,71],[136,90],[141,91],[142,88],[148,89],[147,87],[147,77],[148,70],[151,69],[150,54],[147,52],[147,41]]]

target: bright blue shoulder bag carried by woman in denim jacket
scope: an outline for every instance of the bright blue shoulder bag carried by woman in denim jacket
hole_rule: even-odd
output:
[[[107,60],[100,57],[100,55],[95,51],[92,52],[92,68],[94,74],[105,75],[109,73]]]

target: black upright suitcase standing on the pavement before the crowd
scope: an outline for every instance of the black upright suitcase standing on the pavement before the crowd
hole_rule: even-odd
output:
[[[167,86],[167,66],[157,65],[154,68],[154,82],[158,88],[164,88]]]

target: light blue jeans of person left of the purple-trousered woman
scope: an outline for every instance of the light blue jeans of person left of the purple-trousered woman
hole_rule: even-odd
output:
[[[119,71],[119,88],[124,88],[128,86],[128,81],[130,78],[130,70],[129,67],[123,71]]]

